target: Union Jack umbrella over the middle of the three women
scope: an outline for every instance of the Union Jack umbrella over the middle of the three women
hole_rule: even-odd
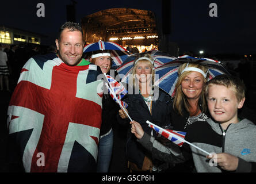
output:
[[[158,51],[156,49],[147,51],[147,52],[135,53],[135,54],[129,55],[127,59],[124,61],[124,63],[121,64],[121,66],[118,67],[116,70],[119,73],[120,78],[122,79],[121,82],[128,83],[128,76],[132,72],[134,60],[139,55],[146,54],[146,53],[149,53],[153,58],[155,68],[160,67],[165,63],[169,63],[174,59],[177,59],[174,56],[170,56],[169,54]]]

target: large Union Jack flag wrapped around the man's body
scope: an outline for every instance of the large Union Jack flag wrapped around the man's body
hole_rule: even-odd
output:
[[[94,172],[103,95],[97,75],[97,66],[67,66],[55,54],[30,58],[7,112],[9,157],[20,156],[26,172]]]

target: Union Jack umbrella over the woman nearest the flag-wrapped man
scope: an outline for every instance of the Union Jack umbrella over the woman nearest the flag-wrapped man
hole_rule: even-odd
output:
[[[120,66],[129,55],[127,49],[123,48],[121,45],[101,40],[96,43],[85,45],[83,53],[104,50],[110,51],[110,57],[113,59],[112,66]]]

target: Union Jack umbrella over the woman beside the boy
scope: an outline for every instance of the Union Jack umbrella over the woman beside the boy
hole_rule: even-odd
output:
[[[178,57],[178,59],[155,68],[155,74],[158,75],[157,80],[154,83],[155,86],[160,87],[162,90],[166,91],[166,93],[169,93],[171,97],[174,97],[175,85],[178,81],[178,69],[179,66],[184,63],[197,63],[207,66],[209,68],[207,80],[212,79],[217,75],[229,74],[226,68],[224,68],[223,65],[217,60],[184,55]]]

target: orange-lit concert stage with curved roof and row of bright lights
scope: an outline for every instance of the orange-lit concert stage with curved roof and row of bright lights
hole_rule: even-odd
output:
[[[86,43],[112,41],[127,48],[158,49],[158,31],[152,11],[129,8],[101,10],[81,20]]]

